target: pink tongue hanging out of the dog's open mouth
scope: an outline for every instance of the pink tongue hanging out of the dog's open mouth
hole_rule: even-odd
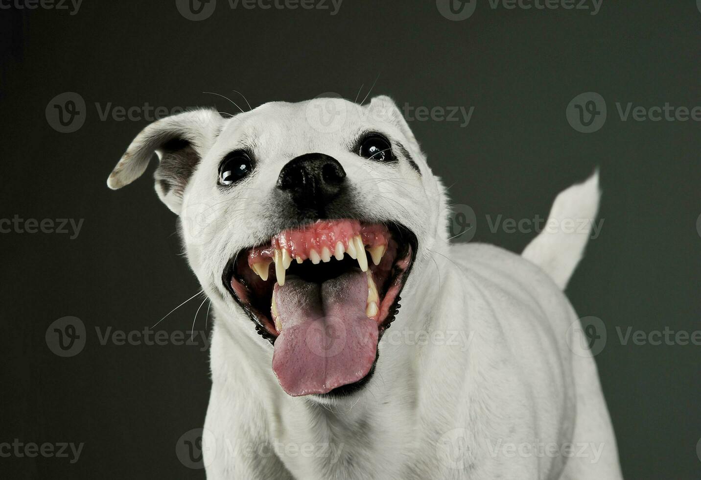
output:
[[[273,371],[292,396],[322,394],[357,382],[375,361],[377,324],[365,315],[367,276],[356,270],[323,284],[287,276],[275,284],[282,333]]]

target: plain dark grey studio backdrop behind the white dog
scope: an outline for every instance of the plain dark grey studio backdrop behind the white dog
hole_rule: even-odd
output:
[[[555,194],[601,168],[601,236],[568,288],[582,316],[604,321],[597,355],[620,458],[630,479],[701,474],[697,345],[622,345],[615,331],[699,322],[697,232],[701,125],[621,121],[615,102],[701,105],[701,13],[694,1],[604,0],[601,11],[493,10],[477,0],[451,21],[435,1],[343,1],[339,13],[231,10],[207,20],[174,1],[86,0],[68,11],[0,11],[2,218],[84,219],[66,234],[1,234],[2,364],[8,373],[0,442],[84,442],[66,458],[0,458],[18,478],[202,478],[176,444],[201,427],[210,389],[207,352],[187,345],[100,345],[95,327],[142,330],[198,290],[149,175],[105,186],[148,121],[102,121],[113,106],[236,107],[372,91],[401,106],[475,107],[469,126],[411,121],[451,199],[477,214],[474,241],[520,251],[533,233],[491,232],[486,215],[544,216]],[[578,0],[579,1],[579,0]],[[590,2],[587,2],[589,4]],[[601,130],[566,121],[576,95],[606,100]],[[73,133],[50,126],[55,95],[86,102]],[[191,329],[193,300],[156,330]],[[206,307],[206,305],[205,305]],[[205,328],[204,309],[196,328]],[[76,316],[86,346],[53,354],[48,326]],[[2,475],[0,475],[2,476]]]

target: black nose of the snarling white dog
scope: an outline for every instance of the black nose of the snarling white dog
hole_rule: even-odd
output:
[[[280,171],[278,188],[292,196],[300,209],[323,211],[339,196],[346,180],[346,171],[332,156],[311,153],[287,162]]]

